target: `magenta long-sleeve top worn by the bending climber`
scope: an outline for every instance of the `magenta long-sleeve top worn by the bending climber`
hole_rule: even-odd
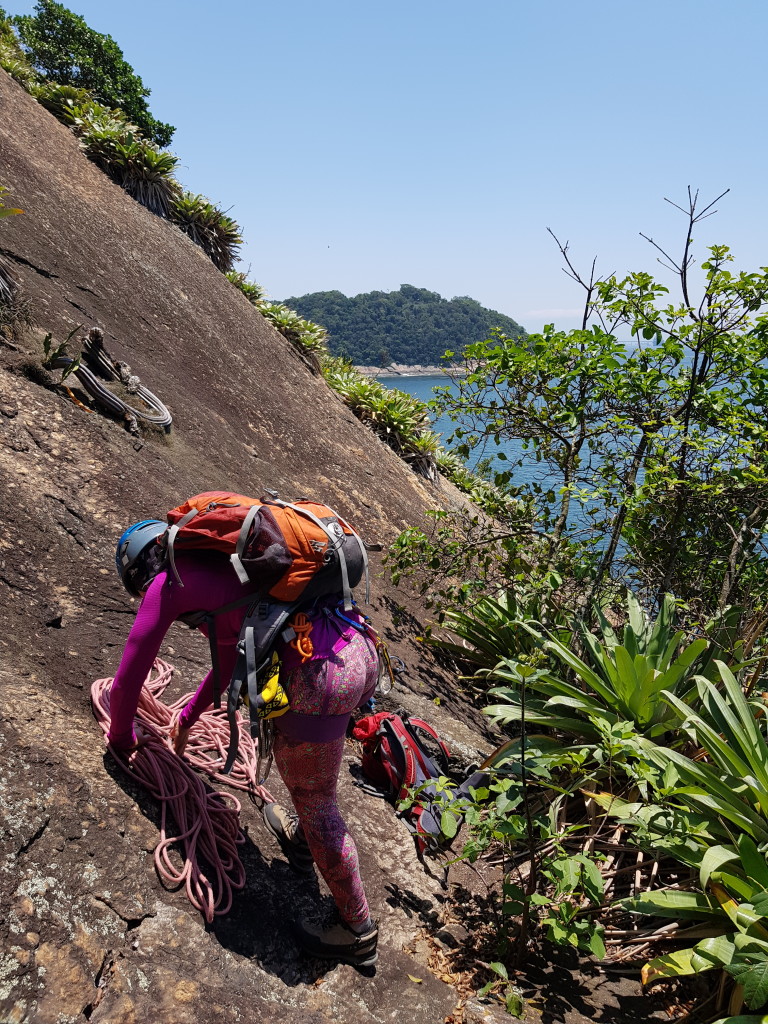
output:
[[[141,686],[158,656],[171,623],[191,611],[213,611],[255,591],[238,580],[228,561],[216,555],[179,553],[176,567],[183,583],[180,587],[170,572],[164,571],[150,584],[126,640],[120,667],[115,674],[110,700],[109,741],[118,750],[128,750],[136,742],[133,717]],[[216,648],[221,685],[226,687],[238,657],[237,643],[248,604],[216,616]],[[207,635],[205,627],[201,631]],[[194,725],[206,708],[213,703],[213,672],[201,682],[181,713],[183,726]]]

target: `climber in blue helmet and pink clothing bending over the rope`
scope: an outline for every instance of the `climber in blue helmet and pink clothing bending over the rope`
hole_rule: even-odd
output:
[[[171,624],[191,612],[215,611],[257,589],[241,584],[225,557],[201,551],[176,555],[179,586],[166,571],[157,544],[165,529],[160,520],[143,520],[129,527],[117,546],[120,578],[132,596],[141,598],[112,685],[108,741],[123,752],[145,741],[133,719],[141,686]],[[296,813],[267,804],[263,816],[295,870],[310,873],[314,861],[339,912],[338,923],[330,928],[297,922],[299,943],[315,956],[368,967],[378,957],[378,927],[362,888],[354,840],[339,811],[337,784],[349,716],[373,695],[378,657],[372,641],[352,625],[359,625],[362,616],[357,611],[346,618],[336,613],[340,599],[329,598],[305,612],[311,624],[309,659],[302,660],[288,644],[279,647],[291,710],[274,719],[274,763]],[[244,603],[216,616],[224,685],[238,658],[247,609]],[[199,629],[207,636],[205,625]],[[171,738],[179,756],[190,728],[213,703],[214,685],[211,670],[174,724]]]

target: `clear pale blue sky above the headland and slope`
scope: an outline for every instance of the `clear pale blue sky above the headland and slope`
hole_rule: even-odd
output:
[[[2,0],[8,13],[32,2]],[[528,331],[588,273],[768,263],[765,0],[72,0],[176,126],[177,176],[242,226],[274,299],[407,283]]]

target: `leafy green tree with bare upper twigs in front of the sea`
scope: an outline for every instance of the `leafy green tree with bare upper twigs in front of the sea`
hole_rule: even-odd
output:
[[[439,404],[465,452],[514,453],[500,482],[527,470],[516,493],[550,563],[567,551],[589,568],[582,600],[631,581],[649,600],[671,591],[711,613],[762,606],[768,584],[768,269],[734,273],[714,246],[694,297],[692,232],[712,204],[689,194],[683,212],[682,257],[664,252],[678,301],[645,272],[573,271],[581,329],[470,345],[469,372]]]

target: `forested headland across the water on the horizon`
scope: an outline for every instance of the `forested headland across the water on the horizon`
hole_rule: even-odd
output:
[[[439,366],[446,351],[461,356],[494,328],[508,338],[525,337],[510,316],[486,309],[463,295],[444,299],[437,292],[400,285],[396,292],[312,292],[285,304],[328,331],[331,352],[358,366]]]

